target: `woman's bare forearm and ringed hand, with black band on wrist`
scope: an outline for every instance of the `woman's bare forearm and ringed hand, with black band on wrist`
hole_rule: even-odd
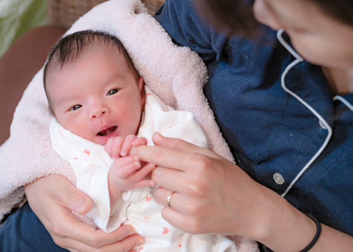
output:
[[[134,147],[130,155],[157,165],[152,179],[163,188],[156,199],[162,216],[190,233],[220,233],[255,239],[274,251],[300,251],[314,238],[315,223],[285,199],[212,151],[154,134],[157,147]],[[167,147],[167,148],[166,148]],[[353,238],[322,225],[310,251],[348,251]]]

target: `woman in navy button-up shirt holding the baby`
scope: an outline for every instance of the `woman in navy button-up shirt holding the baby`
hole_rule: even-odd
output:
[[[219,7],[217,2],[197,1],[218,29],[248,31],[240,29],[241,18],[233,17],[240,16],[232,16],[246,7],[235,1]],[[237,234],[273,251],[307,251],[320,234],[317,219],[322,230],[310,251],[348,251],[353,247],[347,235],[353,234],[353,112],[333,102],[332,94],[353,102],[346,78],[353,68],[352,4],[256,0],[253,8],[260,23],[284,29],[301,56],[326,66],[325,75],[295,52],[291,55],[265,26],[256,28],[258,42],[226,39],[204,25],[191,3],[169,1],[156,19],[175,43],[191,47],[205,61],[210,76],[205,95],[237,165],[159,135],[153,139],[157,147],[141,146],[131,154],[159,165],[152,174],[161,186],[157,200],[166,205],[176,192],[169,202],[173,209],[164,208],[162,216],[186,232]],[[244,22],[248,15],[242,16],[246,27],[254,27]],[[278,35],[288,47],[288,38]],[[295,60],[297,65],[287,68]],[[71,210],[84,214],[91,203],[65,178],[41,178],[25,191],[55,243],[71,251],[128,251],[142,239],[129,236],[133,230],[128,226],[105,234],[80,223]]]

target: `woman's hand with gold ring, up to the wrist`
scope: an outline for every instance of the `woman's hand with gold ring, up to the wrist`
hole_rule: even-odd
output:
[[[248,235],[246,229],[256,225],[253,216],[260,212],[254,207],[260,184],[209,149],[159,134],[153,143],[156,147],[133,147],[130,155],[158,165],[152,179],[161,186],[155,193],[160,204],[177,192],[170,199],[176,211],[162,210],[166,221],[188,233]]]

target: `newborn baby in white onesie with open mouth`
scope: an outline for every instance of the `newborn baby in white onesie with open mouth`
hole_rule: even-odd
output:
[[[132,146],[153,146],[155,132],[207,148],[190,112],[166,106],[139,77],[116,37],[80,31],[62,38],[44,67],[52,146],[72,166],[76,186],[93,202],[87,214],[111,232],[132,225],[145,243],[136,251],[237,251],[221,235],[191,235],[161,217],[154,199],[155,168],[128,156]],[[105,147],[104,147],[105,146]]]

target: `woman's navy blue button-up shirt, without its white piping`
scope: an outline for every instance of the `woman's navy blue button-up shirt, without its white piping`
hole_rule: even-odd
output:
[[[204,60],[209,74],[204,93],[237,164],[254,180],[283,194],[323,145],[328,131],[280,78],[295,58],[261,26],[257,41],[227,39],[200,18],[190,0],[170,0],[155,18],[174,43]],[[286,86],[331,126],[324,152],[293,185],[285,199],[321,223],[353,235],[353,112],[332,101],[321,68],[304,61],[286,77]],[[353,103],[353,94],[343,96]],[[283,184],[273,179],[279,173]]]

